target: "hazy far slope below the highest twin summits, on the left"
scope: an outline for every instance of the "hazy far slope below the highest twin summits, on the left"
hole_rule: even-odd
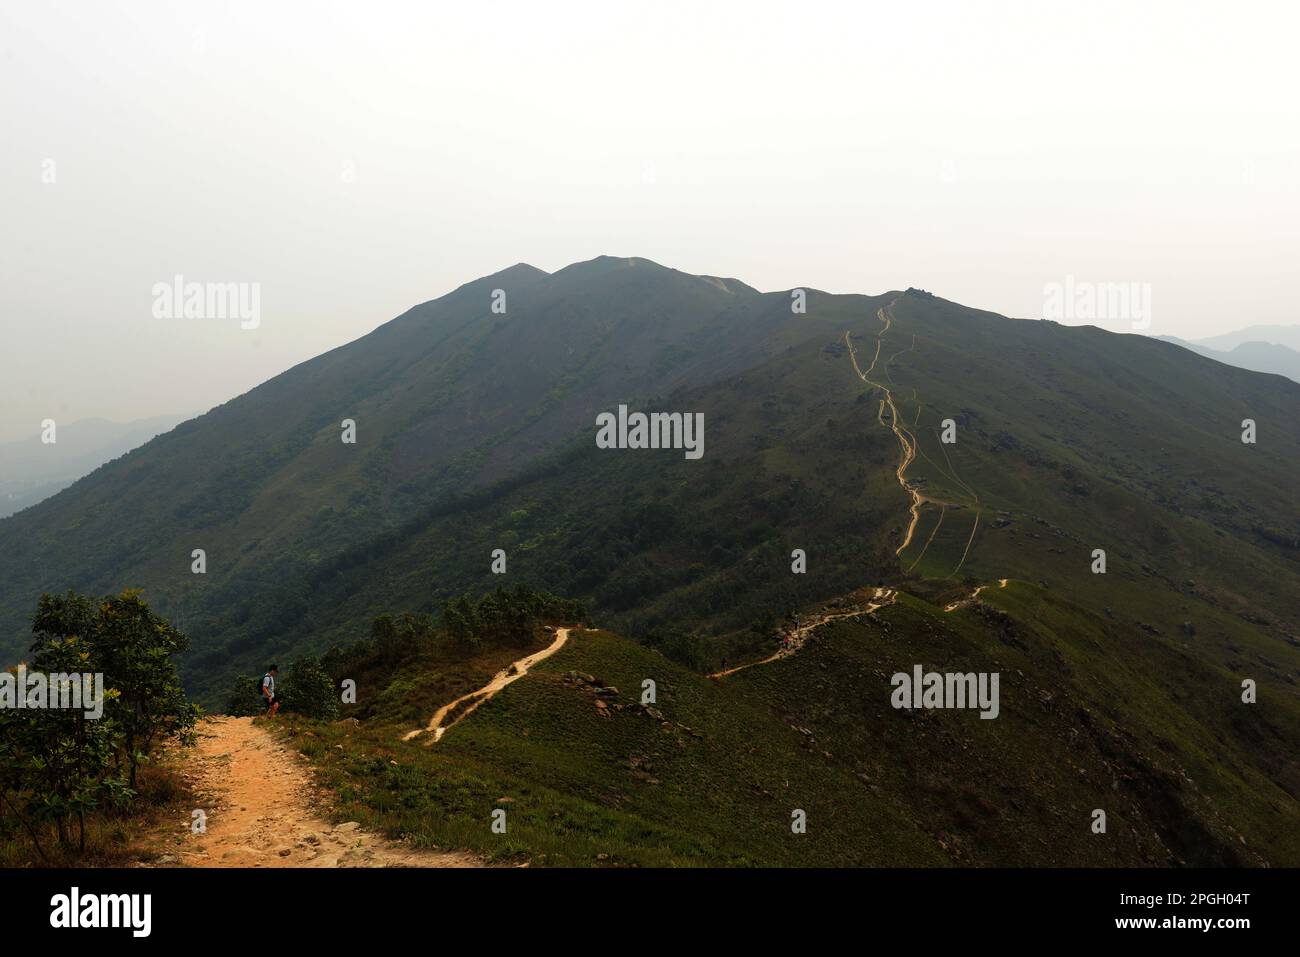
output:
[[[198,655],[217,653],[205,661],[283,648],[282,623],[307,611],[286,583],[517,473],[599,410],[828,338],[872,302],[835,298],[809,319],[789,295],[610,257],[468,283],[0,521],[0,648],[21,654],[36,597],[69,586],[144,588]]]

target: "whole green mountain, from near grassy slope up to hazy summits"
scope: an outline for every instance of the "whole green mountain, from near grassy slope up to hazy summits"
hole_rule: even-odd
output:
[[[702,413],[703,458],[597,447],[619,404]],[[552,863],[1295,865],[1297,411],[1277,376],[919,290],[801,313],[646,260],[514,267],[0,520],[0,649],[40,592],[142,586],[213,703],[526,581],[606,631],[436,748],[400,735],[517,649],[326,657],[364,720],[300,744],[351,817]],[[915,666],[998,672],[1000,716],[890,707]],[[623,690],[599,709],[568,671]]]

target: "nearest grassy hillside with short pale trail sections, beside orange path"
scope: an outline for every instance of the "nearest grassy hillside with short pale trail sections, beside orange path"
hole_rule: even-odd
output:
[[[448,675],[477,681],[500,667],[502,649],[464,659],[434,644],[351,659],[339,674],[358,680],[361,720],[287,733],[335,789],[339,819],[499,862],[1300,859],[1296,768],[1283,757],[1300,744],[1294,701],[1243,710],[1231,675],[1034,585],[952,612],[941,609],[965,592],[919,590],[720,680],[577,631],[432,745],[402,737],[460,693],[463,683],[445,687]],[[1000,671],[1000,718],[892,709],[888,679],[914,663]],[[649,707],[646,679],[658,698]],[[1089,830],[1097,807],[1105,835]],[[495,809],[506,810],[503,835],[490,828]],[[792,832],[794,810],[806,833]]]

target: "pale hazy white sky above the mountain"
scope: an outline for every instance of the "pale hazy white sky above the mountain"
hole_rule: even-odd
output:
[[[5,0],[0,438],[208,408],[599,254],[1013,316],[1143,282],[1186,338],[1300,321],[1295,10]],[[260,325],[156,317],[177,274],[259,283]]]

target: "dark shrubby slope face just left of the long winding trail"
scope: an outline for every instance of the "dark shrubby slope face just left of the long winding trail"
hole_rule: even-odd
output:
[[[495,547],[507,579],[589,596],[599,620],[660,640],[692,628],[766,640],[801,603],[894,573],[897,452],[888,432],[862,428],[867,402],[842,347],[809,343],[654,407],[664,406],[703,411],[703,459],[575,442],[516,482],[322,566],[307,585],[304,637],[346,642],[386,607],[432,611],[490,588]],[[805,575],[790,573],[797,547]]]

